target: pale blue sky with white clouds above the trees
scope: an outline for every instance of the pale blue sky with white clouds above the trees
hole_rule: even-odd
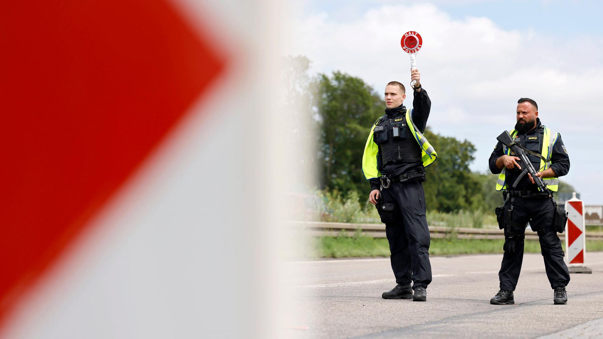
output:
[[[496,136],[515,125],[517,100],[532,98],[569,153],[561,180],[585,204],[603,204],[602,10],[597,1],[306,1],[292,8],[285,53],[308,57],[312,75],[345,72],[380,93],[389,81],[409,83],[400,38],[417,31],[428,125],[475,145],[472,170],[488,171]]]

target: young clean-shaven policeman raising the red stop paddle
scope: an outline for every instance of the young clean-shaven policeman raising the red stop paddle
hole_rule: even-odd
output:
[[[412,109],[403,104],[406,98],[403,84],[391,81],[385,86],[387,109],[371,127],[362,156],[362,171],[371,185],[369,200],[376,204],[385,223],[397,283],[382,297],[425,301],[431,264],[421,182],[425,181],[425,166],[434,162],[437,154],[422,134],[431,100],[421,87],[417,69],[411,70],[411,80],[417,80],[412,90]]]

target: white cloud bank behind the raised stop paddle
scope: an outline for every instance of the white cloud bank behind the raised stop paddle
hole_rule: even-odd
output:
[[[595,189],[603,191],[603,183],[592,185],[581,175],[597,165],[589,157],[600,149],[601,37],[558,41],[534,31],[504,30],[487,16],[453,19],[431,4],[376,4],[347,21],[321,13],[298,18],[291,30],[295,44],[288,52],[306,55],[313,71],[340,70],[379,91],[391,80],[409,83],[410,62],[400,37],[418,31],[423,48],[417,66],[433,102],[429,125],[472,141],[478,149],[473,168],[486,169],[496,136],[514,125],[517,99],[531,97],[543,123],[560,131],[569,149],[590,154],[574,152],[564,179],[593,197]]]

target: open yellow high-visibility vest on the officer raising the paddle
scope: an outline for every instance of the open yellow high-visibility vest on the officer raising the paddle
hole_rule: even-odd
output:
[[[383,118],[383,116],[381,118]],[[364,147],[364,154],[362,154],[362,172],[364,172],[364,176],[367,180],[381,176],[380,171],[377,170],[377,153],[379,153],[379,146],[373,141],[374,128],[381,118],[377,119],[373,124],[373,127],[371,127],[367,144]],[[423,166],[427,167],[431,165],[431,163],[437,159],[438,154],[435,152],[434,147],[429,144],[427,138],[423,136],[423,133],[421,133],[414,122],[412,122],[411,109],[406,109],[406,124],[408,124],[408,128],[410,128],[411,134],[414,136],[419,147],[421,147],[421,161],[423,161]]]

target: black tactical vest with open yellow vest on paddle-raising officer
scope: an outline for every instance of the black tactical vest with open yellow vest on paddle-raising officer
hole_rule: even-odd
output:
[[[437,159],[434,147],[412,122],[412,110],[406,109],[404,116],[391,119],[390,122],[387,115],[384,115],[373,124],[362,154],[362,171],[367,179],[381,175],[378,162],[383,165],[387,161],[400,161],[399,154],[403,160],[421,160],[425,167]],[[379,136],[375,136],[377,133]]]

